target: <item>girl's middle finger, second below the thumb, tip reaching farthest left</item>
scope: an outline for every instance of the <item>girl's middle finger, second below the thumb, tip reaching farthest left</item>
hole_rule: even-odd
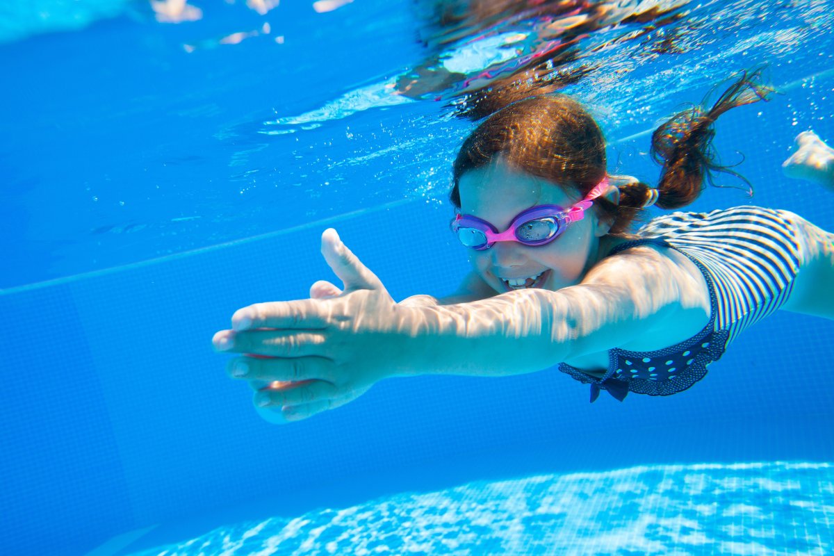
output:
[[[222,352],[297,358],[322,355],[324,340],[319,330],[221,330],[212,343]]]

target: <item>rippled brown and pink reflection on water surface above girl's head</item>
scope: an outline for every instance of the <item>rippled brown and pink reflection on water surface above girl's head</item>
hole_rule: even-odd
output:
[[[316,11],[324,11],[319,8],[325,3],[344,4],[323,0],[314,4]],[[420,42],[428,51],[421,63],[310,113],[265,123],[320,122],[411,100],[445,102],[457,116],[477,120],[515,100],[579,83],[599,68],[610,71],[613,61],[596,58],[598,53],[614,56],[608,51],[617,43],[640,39],[653,56],[685,52],[682,45],[694,28],[681,26],[668,33],[663,29],[686,17],[686,4],[684,0],[420,2],[416,4]]]

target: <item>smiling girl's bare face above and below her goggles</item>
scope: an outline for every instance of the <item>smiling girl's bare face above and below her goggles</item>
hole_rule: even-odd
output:
[[[489,166],[465,173],[459,188],[460,212],[486,220],[499,232],[507,229],[515,215],[527,208],[540,204],[569,208],[581,199],[573,189],[561,188],[512,168],[501,157]],[[522,288],[567,288],[580,283],[599,261],[600,238],[608,228],[590,208],[585,211],[585,218],[570,223],[565,232],[546,245],[530,247],[516,242],[495,242],[483,251],[468,249],[470,262],[475,272],[498,293]],[[524,283],[519,283],[520,280]]]

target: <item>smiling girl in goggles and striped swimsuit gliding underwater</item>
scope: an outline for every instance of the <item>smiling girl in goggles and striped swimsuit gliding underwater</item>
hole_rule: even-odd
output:
[[[636,233],[646,207],[693,202],[714,171],[713,123],[765,98],[743,74],[710,108],[658,128],[663,164],[652,188],[606,172],[599,126],[571,98],[512,103],[465,140],[454,165],[452,223],[472,271],[455,295],[395,303],[339,240],[322,254],[344,282],[311,298],[258,303],[214,335],[241,353],[229,373],[249,380],[271,422],[337,408],[377,381],[448,373],[500,376],[558,365],[623,400],[690,388],[744,329],[776,309],[834,318],[834,234],[794,213],[742,206],[671,213]],[[786,173],[831,181],[831,149],[812,134]]]

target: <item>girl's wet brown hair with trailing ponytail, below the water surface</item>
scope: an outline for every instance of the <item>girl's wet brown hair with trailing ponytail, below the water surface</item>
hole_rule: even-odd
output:
[[[758,83],[761,68],[742,72],[712,108],[693,106],[677,113],[651,136],[651,158],[662,165],[656,188],[660,208],[680,208],[701,194],[713,173],[730,173],[716,162],[712,138],[716,119],[731,108],[766,100],[772,88]],[[455,159],[450,201],[460,208],[460,177],[501,157],[511,166],[552,183],[564,183],[585,196],[606,176],[605,138],[600,126],[573,98],[561,94],[525,98],[486,118],[470,133]],[[749,183],[747,183],[749,186]],[[651,186],[632,181],[617,184],[620,203],[595,202],[610,233],[626,234],[644,212]]]

